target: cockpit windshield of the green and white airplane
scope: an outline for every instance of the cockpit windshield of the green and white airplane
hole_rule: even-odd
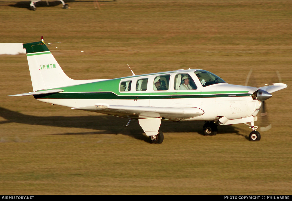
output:
[[[226,83],[223,79],[221,79],[217,75],[206,70],[196,70],[194,73],[199,78],[203,87],[209,86],[212,84]]]

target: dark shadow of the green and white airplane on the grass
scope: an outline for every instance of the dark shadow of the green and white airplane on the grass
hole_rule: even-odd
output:
[[[122,125],[127,124],[128,119],[114,117],[110,115],[100,116],[77,116],[77,117],[65,117],[65,116],[33,116],[25,115],[20,112],[8,110],[0,107],[0,116],[6,120],[0,121],[0,124],[7,123],[20,123],[29,125],[42,125],[42,126],[53,126],[62,128],[84,128],[93,129],[98,131],[90,132],[76,132],[76,133],[62,133],[55,135],[86,135],[86,134],[123,134],[131,136],[138,140],[149,142],[148,136],[146,136],[139,126],[138,121],[132,121],[129,127],[123,127]],[[161,122],[161,131],[185,133],[194,132],[203,135],[202,127],[204,122]],[[248,140],[248,136],[239,134],[232,125],[226,125],[220,127],[218,134],[236,134],[244,136]],[[217,135],[218,135],[217,134]]]

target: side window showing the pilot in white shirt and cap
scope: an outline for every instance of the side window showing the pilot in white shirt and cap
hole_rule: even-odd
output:
[[[198,87],[189,74],[176,74],[174,78],[174,89],[193,90],[198,89]]]

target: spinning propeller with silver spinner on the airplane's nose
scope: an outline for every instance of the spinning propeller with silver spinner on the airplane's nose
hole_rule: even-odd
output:
[[[248,72],[248,75],[246,77],[245,86],[253,86],[253,87],[258,88],[258,85],[256,83],[256,79],[253,77],[252,72],[253,72],[253,69],[251,69]],[[279,79],[279,83],[282,83],[279,71],[276,71],[276,75],[277,75],[277,78]],[[277,78],[274,76],[272,80],[275,80]],[[275,82],[270,82],[268,84],[272,84],[272,83],[275,83]],[[258,113],[258,119],[259,119],[259,125],[260,125],[259,130],[260,131],[267,131],[267,130],[272,128],[272,124],[269,121],[268,112],[267,112],[267,103],[265,103],[265,100],[270,98],[272,96],[272,94],[260,89],[257,91],[256,96],[257,96],[258,100],[260,100],[262,103],[260,112]]]

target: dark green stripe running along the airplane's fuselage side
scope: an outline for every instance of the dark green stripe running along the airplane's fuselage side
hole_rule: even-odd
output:
[[[172,95],[131,95],[131,96],[118,96],[113,92],[77,92],[77,93],[53,93],[34,95],[34,98],[49,98],[49,99],[119,99],[119,100],[133,100],[133,99],[170,99],[170,98],[219,98],[219,97],[244,97],[252,96],[249,93],[237,94],[172,94]]]

